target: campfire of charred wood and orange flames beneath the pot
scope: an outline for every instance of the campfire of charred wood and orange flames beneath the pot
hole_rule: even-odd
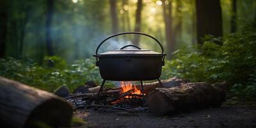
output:
[[[120,87],[106,89],[100,92],[99,97],[95,93],[84,93],[70,96],[68,101],[76,109],[97,107],[127,110],[143,108],[145,96],[146,94],[142,93],[141,88],[136,84],[121,81]]]

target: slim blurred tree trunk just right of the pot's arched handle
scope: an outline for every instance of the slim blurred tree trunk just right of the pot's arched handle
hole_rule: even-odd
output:
[[[174,36],[172,31],[172,4],[171,1],[169,4],[164,4],[163,2],[163,16],[164,16],[164,25],[165,25],[165,38],[166,38],[166,44],[167,44],[167,50],[168,50],[168,58],[172,57],[172,52],[174,51]]]

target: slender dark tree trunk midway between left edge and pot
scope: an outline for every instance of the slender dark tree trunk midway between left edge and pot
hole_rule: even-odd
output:
[[[45,26],[45,39],[47,55],[54,56],[54,51],[52,47],[52,15],[54,8],[54,0],[47,0],[47,12],[46,12],[46,26]]]

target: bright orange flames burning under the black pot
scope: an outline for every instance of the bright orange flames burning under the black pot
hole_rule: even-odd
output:
[[[122,93],[127,92],[127,91],[133,89],[132,94],[142,94],[142,93],[141,93],[141,90],[139,90],[138,88],[136,88],[136,85],[132,85],[131,82],[124,82],[124,81],[121,81],[120,84],[121,84],[121,87],[122,87]]]

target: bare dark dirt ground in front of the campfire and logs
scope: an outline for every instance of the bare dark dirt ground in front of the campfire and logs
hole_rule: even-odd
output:
[[[73,127],[256,127],[256,108],[224,102],[220,108],[207,108],[173,116],[150,113],[100,113],[81,109],[74,113],[86,124]]]

